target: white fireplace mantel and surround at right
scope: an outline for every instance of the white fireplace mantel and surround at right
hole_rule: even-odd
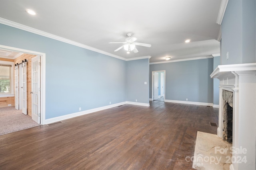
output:
[[[256,63],[219,65],[210,75],[220,80],[217,135],[223,136],[224,90],[233,92],[233,139],[230,170],[256,169]],[[242,151],[243,150],[243,151]],[[246,150],[246,151],[245,151]],[[246,158],[246,161],[239,161]]]

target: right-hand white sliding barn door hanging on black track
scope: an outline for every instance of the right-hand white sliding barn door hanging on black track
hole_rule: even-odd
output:
[[[22,113],[27,114],[27,66],[22,63]]]

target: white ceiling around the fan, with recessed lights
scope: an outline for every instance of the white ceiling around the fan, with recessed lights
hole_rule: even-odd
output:
[[[216,23],[221,0],[0,0],[0,18],[14,21],[126,59],[150,63],[220,53]],[[32,9],[31,16],[25,12]],[[126,33],[138,53],[114,52]],[[191,39],[190,43],[184,43]]]

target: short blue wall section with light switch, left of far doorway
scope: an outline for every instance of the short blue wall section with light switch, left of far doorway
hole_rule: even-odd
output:
[[[149,59],[127,61],[126,101],[149,103]],[[147,82],[147,84],[144,84]]]

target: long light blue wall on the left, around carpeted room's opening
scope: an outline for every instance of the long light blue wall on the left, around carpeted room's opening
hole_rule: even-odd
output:
[[[46,119],[126,101],[126,61],[3,24],[0,45],[46,53]]]

